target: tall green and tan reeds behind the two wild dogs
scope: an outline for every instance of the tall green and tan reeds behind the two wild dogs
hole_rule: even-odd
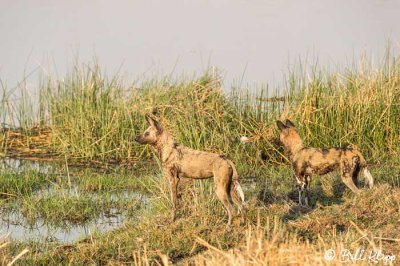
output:
[[[20,152],[29,154],[26,146],[44,142],[45,151],[77,160],[149,157],[149,150],[133,139],[145,129],[144,114],[153,113],[179,142],[252,165],[285,161],[273,142],[279,118],[292,119],[308,145],[356,145],[370,162],[380,162],[400,150],[400,60],[389,54],[378,68],[360,64],[341,73],[300,65],[282,88],[229,93],[223,92],[219,77],[208,72],[195,79],[163,78],[137,85],[117,75],[107,77],[96,64],[76,66],[62,80],[44,79],[39,103],[30,103],[38,106],[30,108],[37,112],[16,119],[36,121],[31,128],[46,126],[43,140],[21,137]],[[21,101],[26,106],[29,99]],[[9,105],[3,103],[1,110],[5,121],[18,117],[7,111],[12,108],[4,108]],[[29,128],[20,131],[35,134]],[[239,141],[243,135],[254,142],[244,147]],[[0,136],[3,153],[13,154],[9,143],[17,142],[15,137],[4,130]]]

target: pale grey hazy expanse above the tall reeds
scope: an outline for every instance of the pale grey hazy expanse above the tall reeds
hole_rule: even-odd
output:
[[[316,54],[345,66],[400,47],[400,0],[2,0],[0,78],[12,86],[42,65],[63,77],[76,54],[109,73],[224,71],[225,84],[280,81],[288,62]],[[57,69],[54,69],[54,65]]]

